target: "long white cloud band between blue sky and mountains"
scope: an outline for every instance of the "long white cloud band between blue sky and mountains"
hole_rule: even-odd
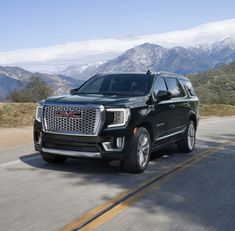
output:
[[[166,47],[213,43],[235,34],[235,19],[202,24],[188,30],[132,37],[78,41],[52,47],[0,52],[0,65],[43,69],[107,60],[129,48],[155,43]]]

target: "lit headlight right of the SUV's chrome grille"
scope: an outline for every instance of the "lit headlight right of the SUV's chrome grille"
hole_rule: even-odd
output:
[[[124,126],[126,125],[130,116],[129,108],[108,108],[106,111],[113,113],[112,123],[110,123],[108,127]]]

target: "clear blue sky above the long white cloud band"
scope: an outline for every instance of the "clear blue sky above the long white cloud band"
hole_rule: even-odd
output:
[[[0,51],[183,30],[234,9],[234,0],[0,0]]]

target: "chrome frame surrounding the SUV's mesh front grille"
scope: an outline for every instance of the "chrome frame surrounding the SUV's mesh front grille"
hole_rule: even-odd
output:
[[[58,107],[58,106],[62,106],[62,107],[81,107],[81,108],[96,108],[96,109],[99,109],[100,110],[100,121],[99,121],[99,124],[98,124],[98,128],[97,128],[97,131],[96,133],[94,134],[75,134],[75,133],[69,133],[69,132],[66,132],[66,133],[63,133],[63,132],[51,132],[51,131],[46,131],[45,129],[45,126],[46,126],[46,123],[45,123],[45,117],[44,117],[44,108],[45,107]],[[68,135],[68,136],[98,136],[103,125],[104,125],[104,122],[105,122],[105,107],[103,105],[95,105],[95,104],[87,104],[87,105],[84,105],[84,104],[61,104],[61,103],[45,103],[43,104],[43,118],[42,118],[42,131],[44,133],[48,133],[48,134],[57,134],[57,135]]]

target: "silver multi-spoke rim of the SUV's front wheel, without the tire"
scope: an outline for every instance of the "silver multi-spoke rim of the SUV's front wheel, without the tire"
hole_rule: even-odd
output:
[[[144,168],[148,163],[150,152],[150,142],[148,135],[145,133],[141,134],[137,145],[138,163],[142,168]]]

